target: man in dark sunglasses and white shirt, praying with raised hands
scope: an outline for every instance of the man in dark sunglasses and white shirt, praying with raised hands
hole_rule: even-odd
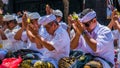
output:
[[[71,49],[81,49],[84,53],[95,56],[93,61],[84,65],[84,68],[94,67],[94,62],[102,68],[113,67],[113,35],[109,28],[98,23],[96,12],[92,9],[84,9],[80,15],[80,21],[73,22],[76,34],[71,40]],[[97,67],[98,65],[95,66]]]

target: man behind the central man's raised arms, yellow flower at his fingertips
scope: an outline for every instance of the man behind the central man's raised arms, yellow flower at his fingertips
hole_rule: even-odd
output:
[[[26,44],[26,49],[30,49],[30,50],[35,50],[35,51],[39,51],[42,53],[42,48],[37,48],[37,44],[35,44],[34,39],[32,38],[32,36],[27,34],[27,26],[28,24],[32,24],[34,26],[34,29],[37,30],[37,32],[40,31],[40,26],[38,25],[38,19],[40,18],[40,15],[38,12],[32,12],[28,15],[24,14],[22,17],[22,27],[21,29],[16,33],[15,35],[15,39],[16,40],[22,40],[23,42],[27,43]],[[28,21],[29,19],[29,21]],[[41,33],[41,32],[40,32]],[[41,53],[36,53],[37,56],[41,56]]]

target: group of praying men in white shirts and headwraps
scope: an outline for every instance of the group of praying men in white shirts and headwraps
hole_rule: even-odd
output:
[[[58,62],[69,57],[71,51],[82,51],[95,56],[84,64],[84,68],[97,68],[99,65],[101,68],[114,67],[113,34],[108,27],[97,21],[94,10],[84,9],[75,20],[71,15],[68,16],[74,29],[72,38],[67,31],[69,26],[62,21],[62,17],[63,14],[58,9],[45,16],[40,16],[37,12],[25,12],[17,19],[14,15],[4,15],[0,29],[0,44],[3,45],[0,48],[0,60],[4,60],[9,51],[30,49],[38,51],[35,54],[39,60],[50,62],[58,68]],[[112,20],[116,21],[120,24],[117,19]],[[94,63],[98,63],[98,66]]]

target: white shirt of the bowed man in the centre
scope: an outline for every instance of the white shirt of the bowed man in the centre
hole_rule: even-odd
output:
[[[45,48],[44,56],[46,58],[53,58],[55,60],[59,60],[63,57],[69,57],[70,52],[70,38],[68,36],[68,33],[66,30],[64,30],[62,27],[59,27],[55,33],[54,36],[48,34],[45,32],[45,36],[43,37],[46,41],[50,42],[55,50],[49,51]]]

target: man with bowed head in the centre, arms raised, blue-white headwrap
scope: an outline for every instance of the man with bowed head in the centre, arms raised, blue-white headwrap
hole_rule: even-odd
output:
[[[54,15],[47,15],[44,21],[40,23],[47,31],[46,37],[42,37],[34,30],[32,25],[29,25],[28,32],[36,40],[36,43],[44,47],[43,61],[49,61],[58,68],[57,63],[60,58],[68,57],[70,52],[70,39],[69,35],[59,24],[56,22]]]

